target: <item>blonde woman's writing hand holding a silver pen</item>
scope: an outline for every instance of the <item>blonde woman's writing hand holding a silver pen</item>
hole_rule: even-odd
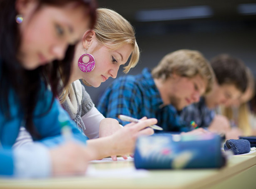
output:
[[[157,119],[142,118],[139,123],[129,123],[112,135],[115,155],[127,155],[134,152],[137,137],[141,135],[152,135],[154,130],[147,128],[157,123]]]

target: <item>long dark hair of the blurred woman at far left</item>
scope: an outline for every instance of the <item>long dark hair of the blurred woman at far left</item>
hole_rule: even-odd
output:
[[[89,8],[91,27],[96,20],[96,4],[94,0],[38,0],[41,5],[63,6],[70,2],[77,2]],[[63,79],[64,86],[70,77],[71,62],[75,47],[67,49],[65,58],[62,61],[53,61],[52,64],[40,66],[34,70],[24,69],[17,60],[17,52],[20,47],[20,32],[15,21],[17,12],[15,10],[15,0],[0,0],[0,110],[6,119],[11,119],[10,104],[8,96],[15,93],[15,103],[19,106],[20,113],[24,114],[27,130],[35,137],[40,137],[34,128],[33,113],[39,92],[47,84],[52,89],[52,103],[57,96],[57,85],[60,78]],[[61,74],[59,73],[61,70]],[[42,82],[43,81],[43,82]],[[51,106],[47,107],[41,116],[47,113]]]

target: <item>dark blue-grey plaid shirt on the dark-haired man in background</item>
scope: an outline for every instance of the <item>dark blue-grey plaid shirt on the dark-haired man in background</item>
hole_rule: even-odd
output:
[[[185,120],[187,125],[194,121],[198,127],[202,128],[207,128],[214,119],[214,116],[214,110],[207,108],[203,97],[200,98],[198,103],[187,106],[181,112],[181,119]]]

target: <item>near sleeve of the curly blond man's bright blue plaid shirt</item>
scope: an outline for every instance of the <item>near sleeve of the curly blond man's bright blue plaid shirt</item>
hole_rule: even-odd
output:
[[[106,118],[115,118],[121,125],[124,122],[118,118],[118,115],[128,115],[134,118],[141,118],[139,106],[142,104],[142,95],[139,87],[134,81],[127,77],[120,78],[107,88],[99,101],[97,109]]]

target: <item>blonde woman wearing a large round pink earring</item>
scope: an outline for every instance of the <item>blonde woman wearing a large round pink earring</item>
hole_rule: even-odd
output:
[[[104,118],[78,79],[87,86],[98,87],[109,77],[116,78],[119,66],[129,57],[125,73],[139,61],[132,25],[113,10],[99,8],[96,12],[94,29],[87,30],[76,46],[70,85],[60,95],[62,107],[89,139],[112,135],[122,125],[115,119]]]

